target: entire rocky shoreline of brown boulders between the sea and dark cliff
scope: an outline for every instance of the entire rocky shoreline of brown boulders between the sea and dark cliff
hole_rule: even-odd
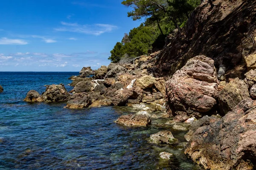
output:
[[[47,85],[42,95],[29,91],[24,101],[67,102],[67,109],[137,108],[137,113],[123,115],[116,123],[148,126],[152,118],[168,118],[172,128],[189,128],[184,136],[188,141],[185,153],[204,168],[253,170],[256,70],[248,71],[244,80],[223,82],[218,80],[214,60],[201,55],[189,59],[172,77],[154,77],[147,68],[157,54],[141,56],[133,63],[111,63],[95,71],[82,68],[80,75],[70,77],[74,86],[70,93],[62,84]],[[184,127],[177,122],[192,125]],[[151,141],[169,144],[175,138],[171,131],[160,131],[151,135]],[[169,159],[169,153],[165,154],[162,157]]]

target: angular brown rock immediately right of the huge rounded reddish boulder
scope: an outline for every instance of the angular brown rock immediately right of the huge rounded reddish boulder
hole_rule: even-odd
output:
[[[246,83],[238,78],[234,79],[218,94],[221,113],[226,114],[232,111],[239,102],[249,97],[250,95]]]

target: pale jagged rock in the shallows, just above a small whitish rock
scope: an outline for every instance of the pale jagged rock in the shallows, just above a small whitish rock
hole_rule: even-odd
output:
[[[156,144],[170,144],[175,142],[175,138],[172,136],[172,132],[168,130],[160,131],[156,134],[150,135],[150,139]]]

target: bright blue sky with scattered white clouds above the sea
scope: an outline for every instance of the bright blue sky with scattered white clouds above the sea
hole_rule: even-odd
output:
[[[80,71],[108,65],[143,20],[122,0],[0,0],[0,71]]]

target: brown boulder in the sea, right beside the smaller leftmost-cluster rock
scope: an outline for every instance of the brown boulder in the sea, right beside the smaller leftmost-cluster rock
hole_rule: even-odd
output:
[[[47,85],[46,91],[42,94],[44,102],[65,102],[69,97],[70,94],[63,84]]]

